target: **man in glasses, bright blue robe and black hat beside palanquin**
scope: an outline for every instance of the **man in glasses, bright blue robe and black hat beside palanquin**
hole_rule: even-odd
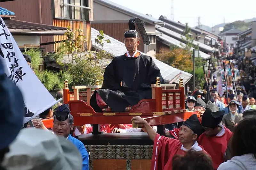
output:
[[[74,117],[70,114],[68,104],[60,105],[54,109],[55,116],[53,119],[53,132],[56,135],[65,137],[71,143],[73,143],[76,148],[80,151],[83,159],[83,169],[89,170],[89,155],[86,151],[84,144],[71,136],[72,130],[74,130]]]

